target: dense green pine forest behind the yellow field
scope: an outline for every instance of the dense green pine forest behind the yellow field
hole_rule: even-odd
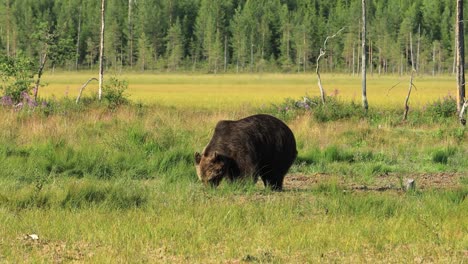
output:
[[[105,65],[134,71],[358,73],[360,0],[106,1]],[[368,71],[454,72],[454,0],[367,4]],[[3,0],[0,51],[65,70],[97,68],[100,1]]]

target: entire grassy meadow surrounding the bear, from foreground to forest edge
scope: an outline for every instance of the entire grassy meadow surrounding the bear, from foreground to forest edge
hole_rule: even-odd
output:
[[[431,107],[454,91],[452,77],[418,77],[406,122],[398,76],[369,79],[368,114],[353,104],[359,78],[345,75],[322,76],[337,95],[311,110],[286,98],[318,95],[313,75],[121,75],[133,103],[116,108],[74,103],[91,75],[44,77],[48,107],[0,107],[0,262],[468,258],[468,133]],[[285,190],[203,187],[193,153],[220,119],[255,113],[295,134]],[[405,192],[409,178],[416,189]]]

